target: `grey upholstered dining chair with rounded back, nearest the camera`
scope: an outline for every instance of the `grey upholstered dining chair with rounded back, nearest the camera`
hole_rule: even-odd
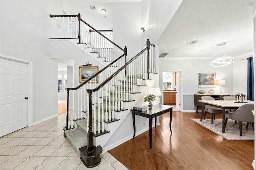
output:
[[[254,110],[254,104],[244,104],[238,107],[234,113],[226,113],[225,128],[228,119],[232,119],[238,121],[240,136],[242,136],[242,122],[247,122],[246,129],[249,123],[251,123],[254,131],[254,115],[252,114],[252,110]]]

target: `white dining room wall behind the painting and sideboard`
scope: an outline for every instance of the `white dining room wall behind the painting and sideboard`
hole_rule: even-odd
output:
[[[206,92],[213,89],[215,93],[220,93],[220,88],[198,88],[198,73],[216,73],[216,79],[225,79],[226,85],[222,86],[222,93],[233,94],[233,64],[226,67],[212,68],[210,59],[159,59],[160,74],[162,71],[181,71],[181,110],[194,111],[194,94],[202,89]],[[160,82],[162,88],[162,82]]]

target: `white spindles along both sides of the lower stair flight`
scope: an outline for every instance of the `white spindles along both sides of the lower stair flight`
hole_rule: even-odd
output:
[[[97,36],[94,35],[94,37]],[[102,43],[99,44],[102,48],[109,47]],[[94,45],[97,43],[94,42]],[[150,48],[154,47],[150,45]],[[148,72],[155,72],[155,55],[151,54],[154,53],[154,49],[150,48],[145,48],[127,63],[125,63],[125,49],[125,54],[120,55],[118,59],[112,58],[114,62],[108,64],[106,68],[100,70],[89,80],[77,88],[67,88],[69,103],[66,129],[72,129],[74,127],[73,119],[82,119],[83,113],[86,112],[87,123],[89,124],[89,118],[93,119],[93,133],[103,132],[104,121],[114,120],[115,111],[124,109],[123,102],[131,100],[131,93],[136,93],[137,86],[142,85],[143,79],[149,78]],[[106,53],[109,51],[105,51]],[[115,53],[119,54],[118,51]],[[150,54],[148,55],[148,53]],[[90,97],[89,91],[92,92]],[[92,99],[91,103],[89,103],[89,98]],[[91,113],[88,110],[89,105],[92,105]]]

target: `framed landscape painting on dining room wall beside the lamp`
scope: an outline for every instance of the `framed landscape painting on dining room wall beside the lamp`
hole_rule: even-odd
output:
[[[215,73],[198,73],[198,88],[215,88]]]

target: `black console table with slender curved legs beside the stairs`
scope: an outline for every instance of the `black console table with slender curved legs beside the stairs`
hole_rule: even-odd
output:
[[[142,117],[147,117],[149,119],[149,145],[150,145],[150,149],[152,148],[152,122],[153,122],[153,118],[155,118],[155,127],[156,127],[156,117],[164,114],[164,113],[168,113],[170,112],[170,131],[172,133],[172,107],[173,106],[168,106],[168,105],[158,105],[158,106],[153,106],[151,109],[148,108],[148,110],[146,111],[136,111],[134,109],[131,109],[132,111],[132,122],[133,122],[133,139],[135,137],[135,115],[139,115]]]

